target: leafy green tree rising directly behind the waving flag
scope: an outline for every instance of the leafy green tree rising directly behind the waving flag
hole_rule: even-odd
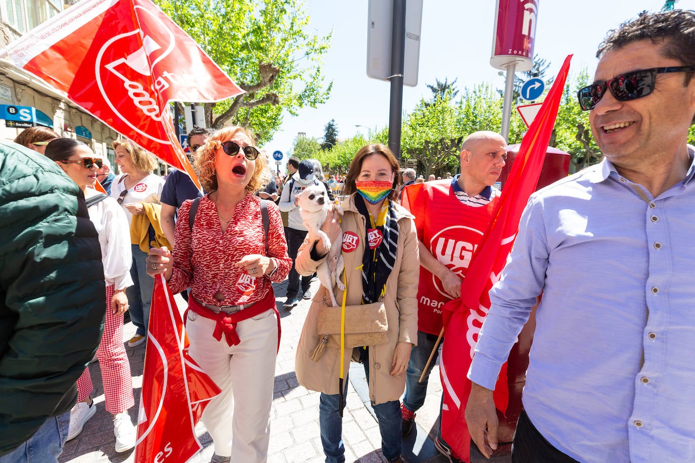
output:
[[[205,103],[208,125],[250,127],[263,144],[284,110],[296,115],[327,101],[332,83],[321,60],[330,35],[308,31],[302,0],[155,1],[246,92]]]

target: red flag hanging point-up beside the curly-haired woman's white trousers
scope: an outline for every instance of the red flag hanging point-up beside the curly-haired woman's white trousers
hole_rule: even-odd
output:
[[[188,356],[181,315],[163,276],[154,279],[151,314],[135,461],[184,463],[202,449],[195,425],[220,389]]]

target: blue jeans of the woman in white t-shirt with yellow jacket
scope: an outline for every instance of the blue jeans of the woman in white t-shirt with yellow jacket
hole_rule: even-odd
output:
[[[152,303],[152,289],[154,278],[147,275],[147,254],[140,250],[138,244],[131,244],[133,263],[131,264],[131,278],[133,286],[126,289],[130,308],[131,321],[138,328],[136,334],[147,335],[147,323],[149,323],[149,305]]]

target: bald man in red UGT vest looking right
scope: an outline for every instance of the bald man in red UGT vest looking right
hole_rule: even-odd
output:
[[[415,413],[425,403],[427,380],[439,357],[436,347],[443,321],[438,308],[461,296],[461,283],[471,262],[470,255],[436,252],[444,242],[466,243],[475,249],[493,218],[500,191],[493,187],[507,158],[507,143],[494,132],[475,132],[461,145],[461,174],[452,179],[420,183],[403,190],[402,203],[415,215],[420,251],[418,280],[418,344],[410,355],[402,404],[402,435],[413,427]],[[466,224],[466,228],[461,224]],[[471,233],[471,229],[479,233]],[[427,301],[427,303],[425,303]],[[425,372],[423,381],[420,376]],[[441,416],[441,410],[440,410]],[[436,448],[452,462],[463,461],[441,437]]]

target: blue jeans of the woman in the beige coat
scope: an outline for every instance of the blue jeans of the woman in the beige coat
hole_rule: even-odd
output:
[[[364,365],[364,373],[369,382],[369,351],[359,348],[359,362]],[[345,392],[347,392],[347,375],[345,375]],[[347,394],[345,394],[347,395]],[[321,394],[318,404],[318,422],[321,429],[321,444],[326,455],[326,463],[345,462],[343,445],[343,419],[338,414],[340,396],[338,394]],[[343,403],[343,407],[345,403]],[[379,422],[382,435],[382,453],[389,462],[400,457],[400,405],[398,401],[372,405]]]

